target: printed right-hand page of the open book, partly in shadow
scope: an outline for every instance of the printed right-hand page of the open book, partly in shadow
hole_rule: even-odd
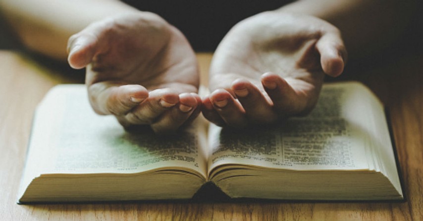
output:
[[[210,168],[369,169],[369,128],[361,119],[368,104],[360,103],[363,95],[355,89],[355,83],[326,84],[311,114],[279,125],[242,131],[211,125]]]

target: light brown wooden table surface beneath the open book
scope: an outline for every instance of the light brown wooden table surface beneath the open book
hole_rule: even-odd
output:
[[[198,58],[206,75],[211,55],[198,54]],[[413,55],[359,68],[343,77],[363,81],[388,106],[406,202],[17,205],[33,111],[53,85],[82,83],[83,73],[58,68],[48,60],[0,51],[0,220],[422,220],[422,64],[423,56]]]

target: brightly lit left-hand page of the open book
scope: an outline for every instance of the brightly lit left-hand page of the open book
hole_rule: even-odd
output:
[[[42,119],[42,120],[39,120]],[[48,119],[48,120],[46,120]],[[40,105],[28,159],[42,161],[42,173],[134,173],[161,167],[187,167],[206,176],[205,131],[188,129],[158,136],[150,129],[125,131],[114,116],[96,114],[84,85],[54,88]],[[46,135],[42,135],[46,136]],[[34,141],[34,140],[33,140]],[[28,166],[31,166],[29,161]]]

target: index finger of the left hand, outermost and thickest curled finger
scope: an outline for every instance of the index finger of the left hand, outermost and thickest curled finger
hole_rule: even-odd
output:
[[[99,114],[126,114],[137,107],[149,93],[141,85],[122,85],[115,82],[99,82],[88,87],[93,109]]]

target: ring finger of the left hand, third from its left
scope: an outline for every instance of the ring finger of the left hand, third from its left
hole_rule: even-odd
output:
[[[200,105],[199,101],[201,101],[200,97],[194,93],[180,94],[179,105],[165,111],[155,123],[151,124],[151,128],[159,134],[178,130],[195,112]]]

